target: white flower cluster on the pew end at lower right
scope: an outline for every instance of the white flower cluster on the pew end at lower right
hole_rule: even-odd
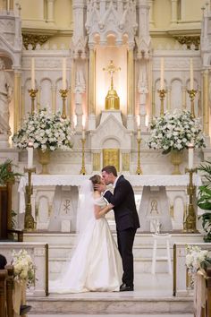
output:
[[[211,262],[207,250],[202,250],[198,245],[186,246],[186,261],[185,264],[190,273],[196,273]]]

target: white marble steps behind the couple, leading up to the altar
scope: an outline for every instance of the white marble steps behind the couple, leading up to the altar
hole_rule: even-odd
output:
[[[114,239],[116,234],[113,233]],[[49,245],[49,278],[55,279],[63,268],[63,264],[71,259],[72,246],[75,240],[75,234],[63,233],[27,233],[24,234],[25,242],[45,242]],[[163,239],[162,239],[163,240]],[[173,261],[173,244],[175,242],[193,243],[202,242],[203,237],[200,234],[172,234],[170,238],[171,257]],[[134,272],[139,280],[140,273],[150,273],[152,266],[153,236],[152,234],[138,233],[135,237],[134,254]],[[157,246],[157,256],[165,256],[165,240],[159,242]],[[166,260],[156,261],[156,273],[167,273],[168,265]]]

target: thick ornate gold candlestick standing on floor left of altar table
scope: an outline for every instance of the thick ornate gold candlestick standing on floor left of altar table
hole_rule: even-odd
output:
[[[31,213],[30,196],[33,193],[33,185],[31,184],[31,174],[36,172],[36,168],[25,168],[24,173],[28,173],[28,184],[26,185],[26,209],[24,218],[24,230],[33,231],[36,228],[35,220]]]

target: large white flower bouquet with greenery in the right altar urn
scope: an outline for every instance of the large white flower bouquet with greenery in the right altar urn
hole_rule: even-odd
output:
[[[173,114],[166,112],[164,116],[154,118],[150,133],[148,147],[161,149],[163,154],[188,148],[192,142],[195,149],[206,147],[200,119],[194,118],[188,110],[176,109]]]

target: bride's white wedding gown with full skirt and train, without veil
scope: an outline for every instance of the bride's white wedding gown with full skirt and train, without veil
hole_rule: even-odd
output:
[[[103,197],[95,204],[105,207]],[[122,259],[108,222],[90,218],[62,276],[49,281],[50,293],[119,291],[122,284]]]

